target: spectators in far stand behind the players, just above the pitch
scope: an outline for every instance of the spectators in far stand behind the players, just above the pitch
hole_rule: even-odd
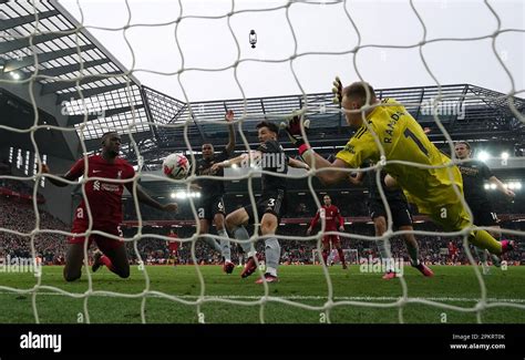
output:
[[[167,236],[171,228],[155,227],[155,228],[143,228],[144,233],[156,234]],[[416,227],[420,230],[436,230],[433,225],[425,225],[424,227]],[[177,264],[194,264],[192,257],[192,246],[195,243],[195,258],[198,264],[217,265],[222,264],[222,257],[218,253],[214,251],[204,240],[194,237],[195,227],[182,227],[178,228],[178,236],[183,239],[181,241]],[[133,229],[126,229],[124,232],[126,237],[132,237],[134,234]],[[369,260],[371,258],[378,258],[379,251],[375,240],[363,240],[352,238],[352,234],[367,235],[373,237],[372,225],[359,224],[357,226],[347,226],[347,236],[342,238],[341,245],[343,249],[353,250],[356,256],[350,256],[350,251],[347,253],[347,259],[350,263],[358,264],[360,260]],[[300,264],[308,265],[318,263],[319,259],[315,256],[317,249],[316,240],[300,239],[306,236],[306,227],[299,225],[286,225],[280,226],[278,235],[296,236],[297,240],[285,240],[281,239],[281,263],[282,264]],[[512,238],[512,237],[511,237]],[[466,265],[469,259],[466,251],[463,247],[463,240],[460,237],[440,237],[440,236],[416,236],[420,246],[420,258],[430,265]],[[457,248],[456,258],[452,258],[449,253],[449,244],[453,243]],[[130,258],[132,263],[137,263],[138,257],[133,249],[133,245],[128,244]],[[257,250],[260,255],[264,255],[264,241],[257,241]],[[403,259],[408,263],[409,257],[404,243],[400,237],[391,238],[391,251],[395,259]],[[147,237],[147,234],[137,244],[138,254],[141,259],[146,264],[166,264],[169,258],[167,243],[164,239]],[[231,243],[233,260],[235,263],[243,263],[243,251],[239,246]],[[473,253],[474,254],[474,253]],[[519,251],[512,251],[504,255],[504,259],[507,261],[522,261],[523,254]],[[475,254],[474,257],[476,258]]]

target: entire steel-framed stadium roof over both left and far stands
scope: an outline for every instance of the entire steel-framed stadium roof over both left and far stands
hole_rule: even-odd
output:
[[[194,150],[204,142],[222,144],[227,136],[222,123],[227,109],[246,116],[243,133],[250,144],[257,143],[256,122],[280,121],[305,105],[316,127],[310,136],[315,146],[343,144],[351,133],[331,93],[185,103],[143,86],[55,0],[35,2],[34,8],[29,1],[4,2],[0,18],[0,79],[34,76],[40,84],[35,95],[53,96],[68,116],[62,126],[74,127],[89,151],[99,147],[99,137],[110,128],[123,133],[130,128],[147,161],[187,151],[185,127]],[[525,125],[508,106],[512,101],[524,114],[523,99],[470,84],[378,89],[377,93],[380,99],[395,97],[403,103],[422,126],[432,130],[431,140],[443,141],[432,114],[440,90],[442,102],[435,109],[452,138],[525,143]],[[238,143],[244,147],[240,140]],[[123,151],[131,161],[136,158],[133,146],[123,146]]]

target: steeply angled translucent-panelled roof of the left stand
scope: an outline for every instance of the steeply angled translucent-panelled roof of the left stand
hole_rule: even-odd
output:
[[[58,1],[3,2],[0,19],[0,79],[23,82],[33,76],[41,84],[35,96],[54,95],[69,115],[66,125],[86,140],[133,121],[132,133],[148,130],[137,79]]]

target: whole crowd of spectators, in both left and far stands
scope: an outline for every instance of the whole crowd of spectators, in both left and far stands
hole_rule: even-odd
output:
[[[11,189],[20,191],[30,188],[25,184],[16,181],[0,179],[2,183],[0,186],[9,186]],[[341,202],[346,204],[346,202]],[[128,218],[136,219],[133,215],[134,207],[133,200],[125,202],[125,214],[131,215]],[[296,206],[289,212],[289,217],[310,218],[315,214],[315,204],[305,203],[303,200],[296,202]],[[239,206],[240,204],[231,204],[231,206]],[[350,205],[348,205],[350,206]],[[353,206],[359,208],[366,208],[366,206]],[[342,207],[344,208],[344,207]],[[156,213],[155,210],[148,212],[147,207],[142,207],[145,212],[143,213],[143,219],[145,220],[158,220],[158,219],[174,219],[173,215],[166,217],[158,217],[158,215],[165,216],[166,213]],[[343,216],[357,216],[354,214],[344,214]],[[39,210],[40,214],[40,228],[41,229],[54,229],[69,232],[70,226],[63,222],[56,219],[44,210]],[[177,219],[181,218],[181,214],[177,214]],[[192,216],[187,217],[192,219]],[[504,227],[518,226],[523,223],[508,223]],[[181,244],[177,263],[178,264],[193,264],[194,257],[192,256],[192,246],[194,245],[194,255],[198,264],[222,264],[223,259],[220,255],[209,248],[209,246],[202,239],[197,239],[195,235],[195,225],[176,225],[178,237],[184,239]],[[31,236],[29,234],[35,228],[35,216],[33,205],[27,204],[17,198],[10,198],[7,196],[0,196],[0,257],[10,256],[29,258],[31,256]],[[317,261],[313,256],[313,250],[317,248],[315,240],[303,240],[306,236],[306,224],[286,224],[280,226],[278,235],[296,236],[297,240],[284,240],[281,239],[281,259],[286,264],[312,264]],[[4,229],[18,232],[19,234],[8,233]],[[166,239],[152,237],[152,234],[167,236],[172,227],[153,227],[145,226],[142,229],[143,236],[137,241],[137,249],[141,259],[146,264],[166,264],[169,259],[169,251]],[[415,229],[423,229],[429,232],[436,232],[437,227],[430,223],[415,224]],[[517,227],[516,229],[519,229]],[[523,230],[523,228],[521,228]],[[251,229],[249,229],[251,233]],[[136,228],[124,227],[124,236],[132,238],[136,234]],[[346,225],[347,237],[342,238],[343,249],[352,249],[353,254],[358,254],[358,258],[349,258],[350,261],[359,261],[360,258],[378,257],[378,249],[374,240],[358,240],[352,237],[352,234],[373,236],[373,226],[371,224],[352,224]],[[467,264],[466,253],[463,248],[461,238],[439,237],[439,236],[416,236],[420,245],[421,258],[429,264],[451,264],[452,259],[447,251],[447,245],[453,241],[459,249],[456,264]],[[404,244],[401,239],[394,237],[391,239],[392,255],[394,258],[403,258],[408,261],[408,255]],[[39,233],[34,236],[35,251],[39,257],[42,258],[44,264],[63,264],[66,239],[64,235],[59,234],[45,234]],[[126,244],[128,248],[130,261],[132,264],[138,263],[138,256],[135,253],[133,241]],[[236,263],[243,261],[243,254],[240,247],[233,243],[233,259]],[[264,241],[257,243],[257,249],[260,254],[264,254]],[[348,254],[348,251],[347,251]],[[523,254],[519,251],[513,251],[505,255],[507,260],[521,261]]]

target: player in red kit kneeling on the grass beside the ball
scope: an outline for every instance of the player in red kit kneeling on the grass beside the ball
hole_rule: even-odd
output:
[[[83,157],[65,175],[59,175],[70,182],[81,176],[89,178],[85,183],[85,197],[82,198],[74,214],[71,230],[74,236],[68,239],[69,248],[64,267],[64,279],[66,281],[74,281],[82,275],[85,237],[80,234],[87,230],[90,217],[93,224],[92,232],[103,232],[122,238],[120,224],[122,223],[122,193],[124,186],[130,193],[135,193],[132,181],[135,171],[130,163],[119,157],[121,136],[116,132],[109,132],[102,136],[101,141],[102,153],[100,155],[91,155],[86,160]],[[87,165],[87,168],[85,168],[85,165]],[[42,172],[50,174],[48,165],[42,165]],[[61,187],[68,185],[65,182],[51,177],[49,181]],[[177,204],[161,205],[144,193],[138,185],[136,186],[136,197],[141,203],[165,212],[177,210]],[[127,278],[130,276],[130,263],[126,248],[123,240],[114,237],[91,234],[90,244],[94,240],[102,251],[95,253],[92,270],[96,271],[102,265],[105,265],[121,278]],[[87,244],[87,247],[90,244]]]

